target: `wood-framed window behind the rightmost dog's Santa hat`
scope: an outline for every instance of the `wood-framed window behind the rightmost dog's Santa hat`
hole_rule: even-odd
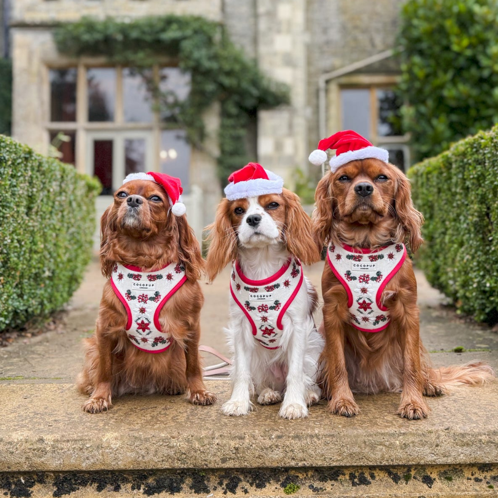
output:
[[[400,128],[401,103],[384,86],[340,89],[341,129],[353,129],[389,151],[389,161],[405,171],[410,164],[408,136]]]

